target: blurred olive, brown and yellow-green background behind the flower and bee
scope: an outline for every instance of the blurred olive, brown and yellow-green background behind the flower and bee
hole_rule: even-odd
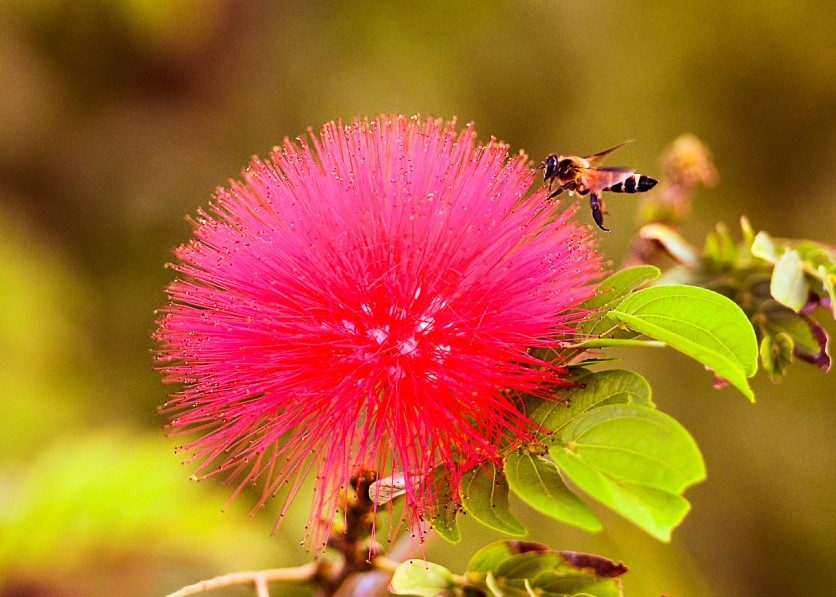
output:
[[[657,175],[691,132],[721,182],[686,236],[745,213],[775,236],[836,241],[832,2],[6,0],[0,15],[3,596],[159,595],[308,559],[305,504],[271,537],[279,503],[251,519],[243,496],[222,512],[230,488],[187,480],[150,362],[184,216],[286,135],[456,115],[537,160],[635,139],[611,163]],[[608,208],[602,248],[618,263],[635,199]],[[533,538],[623,559],[633,596],[830,593],[833,378],[760,375],[750,405],[648,352],[626,366],[706,457],[691,514],[662,545],[601,509],[607,531],[591,536],[518,504]],[[428,557],[460,569],[491,538],[468,521],[464,533]]]

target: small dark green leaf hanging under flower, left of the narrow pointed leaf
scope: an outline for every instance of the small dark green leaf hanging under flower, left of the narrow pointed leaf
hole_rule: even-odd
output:
[[[492,464],[462,475],[462,507],[485,526],[512,537],[525,537],[528,530],[514,518],[508,502],[508,481]]]

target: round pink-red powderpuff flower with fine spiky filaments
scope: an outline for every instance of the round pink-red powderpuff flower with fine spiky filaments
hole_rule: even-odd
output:
[[[574,338],[601,263],[573,210],[527,197],[526,157],[472,126],[309,132],[198,213],[155,338],[181,386],[161,410],[173,434],[201,434],[185,446],[198,474],[263,484],[261,506],[313,468],[322,547],[358,470],[404,473],[414,523],[434,514],[434,466],[455,484],[533,439],[514,395],[567,382],[530,349]]]

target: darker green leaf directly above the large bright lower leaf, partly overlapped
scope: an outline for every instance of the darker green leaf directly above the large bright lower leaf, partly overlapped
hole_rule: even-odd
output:
[[[610,369],[589,373],[577,380],[578,386],[560,390],[560,401],[539,401],[527,411],[529,418],[552,432],[605,404],[641,404],[653,407],[650,384],[635,371]]]

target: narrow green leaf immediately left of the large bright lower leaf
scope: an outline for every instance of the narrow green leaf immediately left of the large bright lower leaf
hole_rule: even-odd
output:
[[[601,530],[601,522],[566,486],[553,462],[515,452],[505,457],[505,474],[511,490],[535,510],[588,531]]]

